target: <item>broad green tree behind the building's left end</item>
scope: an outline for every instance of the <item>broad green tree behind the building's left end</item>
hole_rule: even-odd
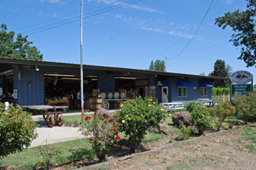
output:
[[[7,32],[7,26],[2,24],[0,30],[0,58],[4,59],[43,59],[38,48],[31,46],[32,42],[27,41],[27,36],[22,37],[19,33],[15,40],[15,32]]]

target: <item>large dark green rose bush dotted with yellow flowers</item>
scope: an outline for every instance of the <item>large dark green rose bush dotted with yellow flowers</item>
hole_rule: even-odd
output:
[[[120,131],[129,137],[131,151],[137,150],[149,128],[158,127],[166,117],[166,111],[160,107],[152,99],[142,97],[121,105],[121,111],[117,114],[121,122]]]

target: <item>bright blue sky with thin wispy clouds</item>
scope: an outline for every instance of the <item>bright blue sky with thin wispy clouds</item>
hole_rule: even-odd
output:
[[[233,71],[255,77],[255,67],[237,59],[240,48],[229,41],[233,31],[214,24],[226,12],[246,9],[247,2],[213,0],[201,23],[211,3],[84,0],[84,64],[144,70],[152,60],[164,59],[168,72],[208,75],[215,61],[224,59]],[[44,61],[80,63],[79,14],[80,0],[0,0],[0,22],[27,35]]]

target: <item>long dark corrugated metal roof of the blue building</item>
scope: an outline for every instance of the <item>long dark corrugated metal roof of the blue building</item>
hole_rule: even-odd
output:
[[[80,68],[79,64],[21,60],[21,59],[3,59],[3,58],[0,59],[0,64],[38,65],[38,66],[41,65],[41,66],[53,66],[53,67],[64,67],[64,68]],[[139,70],[139,69],[100,66],[100,65],[84,65],[84,69],[101,70],[101,71],[127,71],[127,72],[137,72],[137,73],[153,74],[153,75],[160,75],[160,76],[167,76],[167,77],[198,77],[198,78],[204,78],[204,79],[230,80],[229,77],[207,77],[207,76],[191,75],[191,74],[183,74],[183,73],[146,71],[146,70]]]

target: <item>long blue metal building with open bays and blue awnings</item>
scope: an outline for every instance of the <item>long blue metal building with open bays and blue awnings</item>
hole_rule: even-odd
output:
[[[45,83],[68,80],[68,90],[79,84],[79,65],[45,61],[0,59],[0,99],[18,105],[44,105]],[[84,65],[84,77],[100,92],[114,92],[129,84],[137,95],[155,97],[161,102],[187,102],[212,99],[212,81],[229,78],[172,72],[145,71],[118,67]],[[72,79],[73,78],[73,79]],[[56,90],[54,84],[48,86]],[[66,88],[66,89],[67,89]]]

